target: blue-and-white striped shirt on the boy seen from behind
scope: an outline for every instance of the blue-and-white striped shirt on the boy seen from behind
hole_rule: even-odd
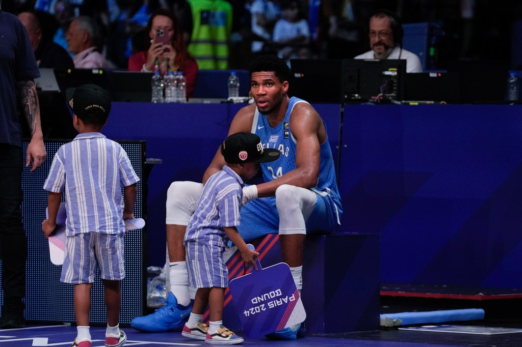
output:
[[[122,187],[139,181],[120,144],[99,132],[58,148],[43,189],[65,192],[66,235],[124,233]]]

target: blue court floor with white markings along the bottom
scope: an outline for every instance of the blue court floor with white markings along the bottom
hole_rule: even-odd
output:
[[[341,324],[341,322],[340,322]],[[467,322],[466,325],[503,326],[522,328],[522,322]],[[207,346],[204,341],[187,339],[180,332],[143,333],[130,327],[123,328],[127,334],[125,346]],[[91,327],[92,347],[104,346],[103,327]],[[240,333],[238,331],[238,333]],[[241,335],[241,333],[240,333]],[[76,337],[76,327],[72,325],[28,325],[23,329],[0,330],[0,347],[63,346],[68,347]],[[440,346],[522,346],[522,333],[480,335],[468,333],[422,332],[408,330],[376,330],[335,334],[331,336],[306,336],[293,341],[270,341],[264,338],[248,339],[242,345],[270,347],[336,347],[336,346],[377,346],[377,347],[440,347]]]

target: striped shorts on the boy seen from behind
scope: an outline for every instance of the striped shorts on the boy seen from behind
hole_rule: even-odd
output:
[[[97,267],[100,278],[122,280],[125,277],[123,249],[123,233],[86,232],[66,237],[60,281],[74,284],[93,283]]]

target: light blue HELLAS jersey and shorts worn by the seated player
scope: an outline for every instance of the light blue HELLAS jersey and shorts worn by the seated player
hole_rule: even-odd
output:
[[[291,97],[284,120],[276,127],[271,127],[265,115],[260,114],[256,108],[252,122],[252,132],[259,136],[264,148],[276,148],[281,153],[279,159],[274,160],[274,162],[261,163],[265,182],[277,179],[295,169],[296,140],[293,138],[290,129],[290,114],[297,103],[307,102],[297,97]],[[334,159],[328,139],[321,144],[320,151],[319,177],[316,187],[311,188],[319,195],[314,212],[306,223],[307,232],[335,231],[342,214]],[[238,227],[238,229],[245,241],[263,234],[277,232],[279,217],[277,216],[277,210],[275,210],[275,197],[257,199],[243,206],[241,209],[241,222],[242,226]]]

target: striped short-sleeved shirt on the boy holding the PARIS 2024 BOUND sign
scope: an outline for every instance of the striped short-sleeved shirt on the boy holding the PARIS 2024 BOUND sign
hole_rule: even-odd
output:
[[[210,176],[185,231],[188,242],[226,246],[223,227],[239,226],[243,180],[228,166]]]

